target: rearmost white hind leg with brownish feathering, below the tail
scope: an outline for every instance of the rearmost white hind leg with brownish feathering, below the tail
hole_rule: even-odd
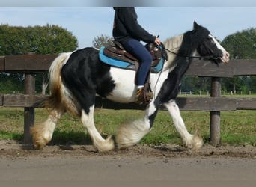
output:
[[[33,136],[33,144],[36,149],[42,150],[52,140],[55,126],[62,114],[63,111],[53,110],[46,121],[31,127],[30,132]]]

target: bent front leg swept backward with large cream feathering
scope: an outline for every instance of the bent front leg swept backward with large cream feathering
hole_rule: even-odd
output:
[[[144,135],[147,135],[153,125],[156,112],[153,102],[150,102],[143,119],[134,120],[131,123],[120,126],[116,135],[118,148],[131,147],[137,144]]]

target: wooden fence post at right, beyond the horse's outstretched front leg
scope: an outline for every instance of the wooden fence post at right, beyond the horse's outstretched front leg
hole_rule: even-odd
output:
[[[210,96],[221,96],[219,77],[212,77]],[[217,146],[220,142],[220,111],[210,111],[210,144]]]

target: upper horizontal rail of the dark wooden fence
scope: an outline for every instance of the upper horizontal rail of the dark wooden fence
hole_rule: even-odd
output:
[[[36,73],[49,70],[58,55],[10,55],[0,57],[0,72]],[[256,59],[233,59],[227,64],[193,60],[187,76],[233,77],[256,75]]]

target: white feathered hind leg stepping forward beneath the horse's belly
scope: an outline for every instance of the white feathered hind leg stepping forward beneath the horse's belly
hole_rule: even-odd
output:
[[[94,124],[94,105],[92,105],[88,113],[82,109],[81,120],[83,125],[86,127],[88,134],[93,141],[94,147],[99,151],[107,151],[113,150],[115,148],[114,141],[112,140],[111,136],[106,140],[100,135],[100,132],[97,131],[95,124]]]

